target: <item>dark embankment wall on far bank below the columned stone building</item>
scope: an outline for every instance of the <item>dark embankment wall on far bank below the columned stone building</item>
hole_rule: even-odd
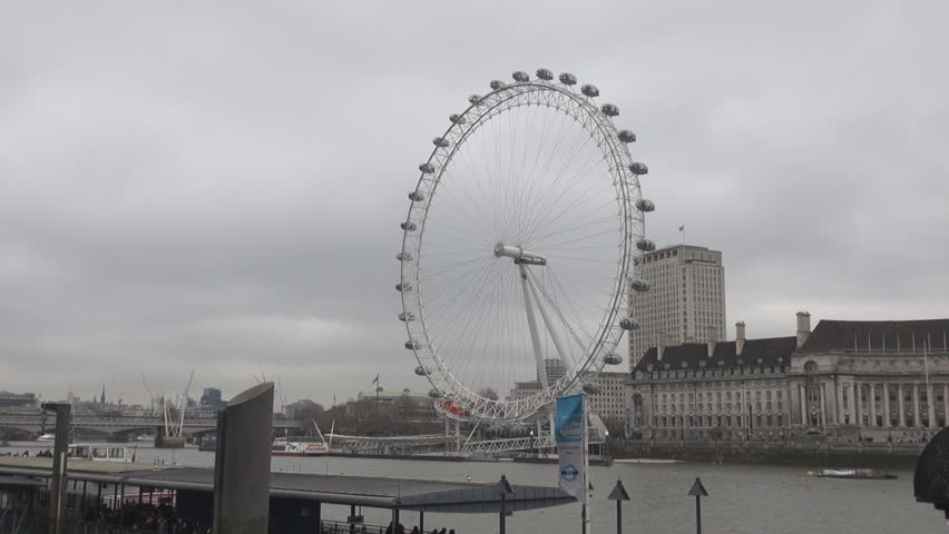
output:
[[[614,458],[677,459],[726,464],[772,464],[821,467],[879,467],[912,469],[921,445],[890,444],[738,444],[738,443],[627,443]]]

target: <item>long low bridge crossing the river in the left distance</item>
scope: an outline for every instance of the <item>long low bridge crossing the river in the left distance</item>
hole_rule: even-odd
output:
[[[157,415],[74,415],[72,427],[92,431],[106,436],[121,436],[135,433],[154,432],[165,426],[165,418]],[[273,427],[282,429],[304,428],[302,419],[274,418]],[[11,428],[32,434],[51,432],[56,427],[56,415],[49,414],[2,414],[0,428]],[[217,429],[217,417],[188,417],[185,415],[184,433],[186,435],[204,434]]]

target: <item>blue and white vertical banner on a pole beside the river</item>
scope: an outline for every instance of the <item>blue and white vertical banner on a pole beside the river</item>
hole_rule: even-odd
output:
[[[560,456],[560,490],[586,502],[584,396],[557,397],[555,435]]]

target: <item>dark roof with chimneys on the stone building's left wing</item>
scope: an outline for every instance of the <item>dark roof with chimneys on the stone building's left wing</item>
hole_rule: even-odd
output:
[[[684,343],[663,348],[663,357],[657,357],[657,347],[652,347],[643,355],[633,369],[649,373],[655,370],[702,369],[717,367],[766,366],[783,367],[791,363],[791,354],[796,348],[796,337],[769,337],[763,339],[746,339],[741,354],[736,352],[735,342],[718,342],[708,356],[708,344]]]

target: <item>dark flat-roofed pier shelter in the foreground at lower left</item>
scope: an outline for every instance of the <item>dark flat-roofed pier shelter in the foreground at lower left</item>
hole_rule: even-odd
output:
[[[22,504],[17,515],[20,524],[33,522],[36,526],[43,521],[45,495],[51,476],[50,458],[0,457],[0,495],[16,494],[17,503]],[[81,525],[90,506],[106,504],[115,508],[117,504],[159,502],[174,507],[179,517],[203,524],[212,521],[216,488],[211,468],[74,462],[66,481],[66,524]],[[511,490],[512,494],[505,495],[507,513],[575,502],[557,487],[512,484]],[[156,495],[160,497],[156,500]],[[363,516],[359,512],[362,507],[387,510],[393,523],[420,527],[424,526],[428,512],[498,514],[501,511],[497,483],[272,472],[270,497],[270,524],[276,532],[325,532],[316,528],[327,524],[348,524],[352,527],[349,532],[363,532]],[[324,504],[349,506],[350,516],[342,521],[324,520]],[[0,528],[4,526],[8,525],[0,523]]]

